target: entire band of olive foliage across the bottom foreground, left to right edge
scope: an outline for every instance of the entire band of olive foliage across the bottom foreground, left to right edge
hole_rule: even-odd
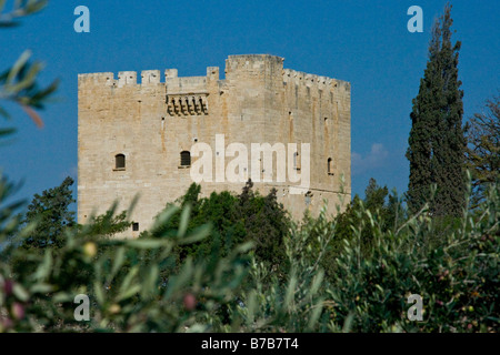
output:
[[[17,245],[34,223],[19,229],[17,206],[2,204],[11,189],[0,185],[2,332],[499,329],[498,184],[480,214],[464,212],[447,229],[426,209],[387,229],[377,211],[360,203],[352,235],[340,237],[337,221],[323,211],[291,225],[281,265],[256,257],[251,242],[229,253],[211,243],[203,257],[179,258],[182,245],[212,237],[208,225],[188,227],[189,206],[180,216],[176,206],[162,212],[154,237],[113,240],[90,224],[68,227],[59,248],[32,252]],[[439,241],[427,247],[436,235]],[[329,263],[334,272],[326,274]],[[79,294],[90,297],[88,322],[74,318]],[[410,294],[423,298],[422,322],[408,320]]]

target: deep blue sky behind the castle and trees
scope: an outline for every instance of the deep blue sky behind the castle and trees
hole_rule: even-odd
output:
[[[9,1],[8,1],[9,2]],[[423,32],[410,33],[410,6],[423,10]],[[38,129],[8,105],[18,133],[0,145],[0,169],[23,180],[20,199],[77,178],[77,74],[177,68],[204,75],[230,54],[269,53],[284,68],[351,82],[352,192],[363,195],[371,176],[404,192],[404,158],[428,55],[430,29],[446,1],[50,1],[22,26],[0,30],[0,71],[31,49],[46,63],[42,84],[61,80]],[[464,120],[498,93],[500,10],[496,1],[452,1],[452,40],[460,40],[459,75]],[[74,8],[90,9],[90,33],[77,33]],[[0,102],[0,104],[3,104]]]

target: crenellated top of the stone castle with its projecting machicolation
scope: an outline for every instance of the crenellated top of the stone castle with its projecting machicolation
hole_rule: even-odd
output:
[[[236,87],[256,90],[261,84],[264,88],[294,85],[307,88],[308,97],[309,89],[314,88],[314,91],[330,91],[331,101],[333,92],[350,95],[349,82],[283,69],[283,61],[284,58],[271,54],[229,55],[226,60],[224,80],[219,79],[219,67],[208,67],[204,77],[179,77],[177,69],[166,69],[163,75],[160,70],[143,70],[140,74],[136,71],[120,71],[118,78],[112,72],[79,74],[78,83],[79,90],[96,91],[101,88],[124,90],[126,94],[144,89],[140,94],[149,95],[151,90],[161,90],[166,94],[167,112],[171,116],[208,115],[209,95]],[[130,88],[133,90],[130,91]],[[297,97],[292,100],[297,105]]]

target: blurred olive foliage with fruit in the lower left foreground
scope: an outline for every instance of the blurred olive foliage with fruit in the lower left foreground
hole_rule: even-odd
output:
[[[166,211],[159,221],[164,223],[171,215],[172,211]],[[203,321],[232,300],[247,273],[248,261],[241,255],[250,245],[241,245],[227,257],[213,254],[197,263],[187,257],[169,280],[160,277],[160,270],[171,265],[176,246],[206,237],[208,230],[178,230],[177,240],[96,239],[93,231],[92,225],[68,229],[64,243],[59,248],[46,247],[43,253],[4,245],[0,252],[0,332],[208,331],[211,326]],[[18,237],[27,235],[21,231]],[[34,267],[13,271],[9,260],[19,254]],[[90,296],[89,322],[73,317],[78,294]]]

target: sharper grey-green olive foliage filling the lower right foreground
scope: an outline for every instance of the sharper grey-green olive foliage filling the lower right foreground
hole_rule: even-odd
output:
[[[432,247],[426,241],[441,222],[429,216],[427,206],[384,231],[380,215],[361,204],[361,222],[351,225],[353,237],[342,241],[331,276],[319,265],[337,237],[334,222],[322,214],[310,226],[296,226],[286,237],[293,261],[287,282],[252,263],[253,284],[244,288],[233,320],[244,332],[498,332],[498,185],[487,201],[481,216],[467,212]],[[367,230],[368,254],[361,247]],[[410,294],[423,298],[422,322],[407,316]]]

